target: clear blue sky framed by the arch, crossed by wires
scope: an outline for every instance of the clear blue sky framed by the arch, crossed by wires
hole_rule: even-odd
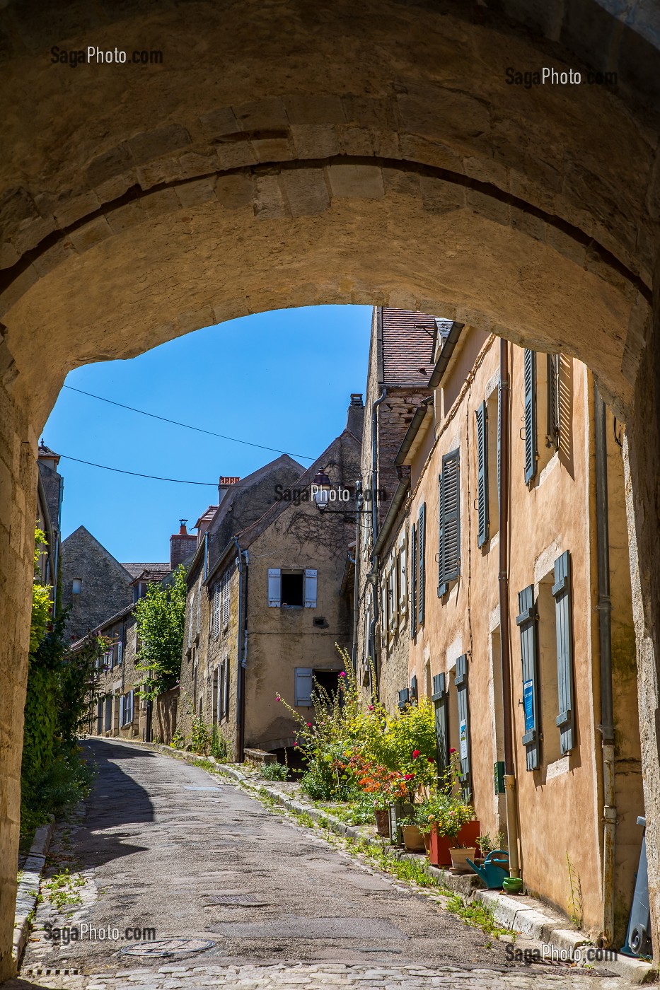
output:
[[[317,306],[207,327],[125,361],[88,364],[66,385],[229,437],[316,458],[367,381],[372,310]],[[278,456],[170,426],[62,389],[43,431],[58,453],[144,474],[208,481]],[[307,467],[310,460],[297,457]],[[63,457],[62,537],[85,526],[119,560],[166,560],[217,488],[100,470]]]

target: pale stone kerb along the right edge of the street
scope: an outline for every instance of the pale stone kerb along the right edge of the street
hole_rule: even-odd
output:
[[[104,742],[113,742],[113,740],[106,738]],[[264,778],[255,780],[254,777],[242,773],[236,766],[220,763],[213,756],[199,756],[183,749],[172,749],[171,746],[163,743],[143,743],[140,740],[129,741],[125,739],[118,740],[118,742],[139,745],[183,759],[187,763],[194,763],[196,760],[203,759],[214,764],[219,773],[233,778],[238,784],[257,796],[259,796],[260,790],[265,791],[277,804],[298,815],[308,815],[313,822],[331,830],[343,839],[367,841],[379,849],[384,846],[382,839],[365,832],[360,826],[346,825],[345,822],[335,818],[332,812],[305,804],[297,798],[291,797],[290,794],[277,790],[272,781]],[[570,953],[579,948],[584,950],[587,946],[596,947],[583,933],[568,928],[566,918],[562,918],[558,912],[554,912],[537,898],[527,895],[507,896],[501,891],[486,890],[480,886],[480,880],[476,874],[461,876],[453,874],[449,870],[431,866],[428,860],[420,854],[406,852],[394,845],[385,845],[385,850],[388,855],[396,859],[407,859],[421,866],[425,873],[433,877],[439,887],[446,887],[459,893],[466,903],[471,899],[483,901],[493,910],[495,922],[517,935],[540,941],[545,945],[552,946],[558,952]],[[564,958],[566,957],[564,956]],[[631,983],[645,983],[655,979],[657,975],[651,963],[617,952],[612,953],[611,957],[602,962],[595,960],[592,964],[596,971],[603,969],[608,974],[616,974]]]

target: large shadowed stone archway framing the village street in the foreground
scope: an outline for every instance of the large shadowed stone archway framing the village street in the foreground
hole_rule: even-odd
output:
[[[541,6],[252,0],[154,13],[135,0],[114,14],[62,2],[0,15],[11,108],[0,161],[3,891],[18,831],[35,452],[64,375],[235,316],[327,302],[455,316],[574,353],[625,421],[660,875],[658,52],[641,11],[624,23],[609,0],[585,0],[580,17]],[[161,49],[163,64],[51,61],[52,46],[91,42],[129,58]],[[546,64],[617,71],[618,87],[506,82],[508,66]],[[6,915],[0,928],[1,977]]]

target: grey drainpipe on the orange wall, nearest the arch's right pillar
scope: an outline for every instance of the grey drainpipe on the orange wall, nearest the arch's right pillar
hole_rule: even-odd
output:
[[[594,382],[596,425],[596,530],[599,551],[599,638],[601,645],[601,734],[603,737],[603,933],[599,943],[614,937],[614,720],[611,696],[611,602],[609,600],[609,526],[607,506],[607,436],[605,402]]]

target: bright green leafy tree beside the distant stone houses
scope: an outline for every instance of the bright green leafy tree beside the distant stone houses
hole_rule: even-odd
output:
[[[153,700],[178,683],[185,595],[185,569],[179,565],[170,584],[150,584],[146,596],[136,604],[141,644],[137,667],[147,673],[140,685],[142,698]]]

